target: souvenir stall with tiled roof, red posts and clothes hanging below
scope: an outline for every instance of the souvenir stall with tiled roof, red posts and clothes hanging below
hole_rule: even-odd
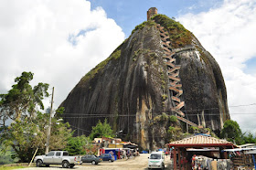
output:
[[[237,147],[226,140],[205,135],[195,135],[167,144],[172,149],[174,169],[226,170],[230,167],[228,154],[223,149]]]

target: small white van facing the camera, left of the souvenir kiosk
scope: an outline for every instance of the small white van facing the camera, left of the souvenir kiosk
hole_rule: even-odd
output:
[[[164,152],[154,152],[148,157],[148,169],[161,168],[165,169],[165,154]]]

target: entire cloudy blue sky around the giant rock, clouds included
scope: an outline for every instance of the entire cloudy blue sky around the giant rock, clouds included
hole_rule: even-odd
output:
[[[251,0],[0,1],[0,93],[11,89],[22,71],[32,71],[32,83],[55,87],[58,108],[80,79],[146,20],[150,7],[176,17],[218,61],[229,106],[256,103],[256,1]],[[256,105],[229,112],[243,132],[256,133]]]

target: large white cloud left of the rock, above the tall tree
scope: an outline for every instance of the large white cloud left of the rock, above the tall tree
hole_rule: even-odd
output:
[[[86,0],[0,2],[0,93],[22,71],[55,87],[55,107],[124,40],[121,27]],[[49,100],[49,99],[48,99]]]

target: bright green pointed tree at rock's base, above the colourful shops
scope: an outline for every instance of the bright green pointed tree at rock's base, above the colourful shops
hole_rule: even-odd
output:
[[[92,127],[90,138],[93,140],[97,137],[114,137],[112,126],[108,123],[107,119],[102,123],[101,120]]]

